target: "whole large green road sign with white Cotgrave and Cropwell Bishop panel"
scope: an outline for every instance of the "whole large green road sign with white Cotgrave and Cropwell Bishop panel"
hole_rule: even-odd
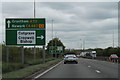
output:
[[[6,45],[45,45],[45,18],[7,18]]]

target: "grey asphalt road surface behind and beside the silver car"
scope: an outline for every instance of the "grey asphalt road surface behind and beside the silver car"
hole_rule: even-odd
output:
[[[80,58],[78,64],[61,62],[39,78],[118,78],[118,64]]]

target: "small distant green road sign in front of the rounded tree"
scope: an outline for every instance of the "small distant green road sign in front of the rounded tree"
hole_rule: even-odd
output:
[[[60,54],[63,53],[63,46],[50,46],[49,51],[52,54]]]

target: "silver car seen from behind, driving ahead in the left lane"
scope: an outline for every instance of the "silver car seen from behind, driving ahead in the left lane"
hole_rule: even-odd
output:
[[[67,54],[64,57],[64,64],[66,63],[78,63],[78,58],[74,54]]]

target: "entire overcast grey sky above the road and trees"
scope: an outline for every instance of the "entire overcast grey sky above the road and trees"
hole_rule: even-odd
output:
[[[32,2],[3,2],[0,37],[5,38],[5,18],[33,18]],[[118,46],[117,2],[36,2],[36,18],[46,18],[46,44],[58,37],[66,48]],[[1,34],[2,33],[2,34]]]

